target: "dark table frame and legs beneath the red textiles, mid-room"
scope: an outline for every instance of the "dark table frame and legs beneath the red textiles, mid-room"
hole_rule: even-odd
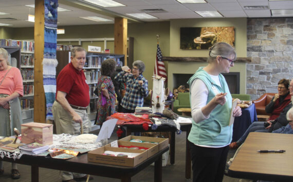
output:
[[[191,178],[191,153],[188,143],[188,135],[191,130],[191,123],[180,124],[180,130],[186,132],[186,161],[185,161],[185,177],[187,179]],[[126,131],[126,136],[131,135],[131,132],[171,132],[170,138],[170,164],[175,164],[175,132],[176,128],[169,126],[159,126],[156,130],[144,130],[141,125],[123,125]]]

